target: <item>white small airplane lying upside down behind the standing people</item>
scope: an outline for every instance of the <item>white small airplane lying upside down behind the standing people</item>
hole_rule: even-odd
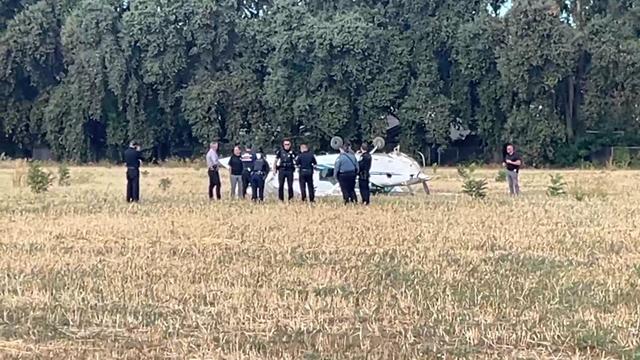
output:
[[[429,177],[422,172],[420,164],[409,157],[407,154],[401,153],[399,147],[392,152],[386,154],[376,153],[376,150],[384,147],[384,139],[376,138],[373,142],[374,148],[371,150],[372,164],[370,171],[370,186],[373,194],[396,194],[409,193],[414,194],[413,185],[422,184],[424,191],[429,194],[429,186],[427,182]],[[331,139],[331,146],[338,149],[342,146],[342,139],[334,137]],[[333,174],[333,168],[339,154],[316,155],[318,161],[317,171],[314,172],[313,182],[317,197],[339,196],[341,195],[340,185]],[[356,154],[360,160],[360,154]],[[266,155],[269,166],[273,166],[276,161],[275,155]],[[229,168],[229,157],[220,159],[220,163],[225,168]],[[300,184],[298,181],[298,170],[294,173],[293,191],[296,195],[300,195]],[[286,188],[285,183],[285,188]],[[274,174],[273,169],[267,176],[265,183],[265,195],[278,193],[278,177]],[[356,186],[356,191],[358,191]],[[360,195],[360,194],[358,194]]]

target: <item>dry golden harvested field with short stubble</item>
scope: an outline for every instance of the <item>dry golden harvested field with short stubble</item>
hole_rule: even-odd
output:
[[[473,200],[439,169],[363,209],[145,171],[129,205],[119,167],[34,195],[3,165],[0,358],[640,358],[640,172],[564,171],[549,197],[525,170],[511,199],[480,170]]]

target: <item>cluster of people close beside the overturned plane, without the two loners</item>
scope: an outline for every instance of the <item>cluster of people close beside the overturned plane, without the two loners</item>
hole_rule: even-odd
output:
[[[356,181],[359,182],[362,203],[370,204],[371,191],[369,188],[369,172],[372,158],[367,144],[362,144],[360,161],[351,150],[350,144],[344,144],[340,148],[340,155],[335,163],[334,176],[340,184],[340,190],[345,203],[357,203],[355,192]],[[209,174],[209,199],[221,199],[220,181],[220,157],[218,155],[218,143],[210,144],[206,155]],[[251,199],[264,201],[264,187],[267,175],[273,170],[278,176],[278,199],[285,201],[285,185],[287,187],[287,200],[294,198],[293,180],[294,173],[298,169],[298,181],[300,185],[301,200],[315,202],[315,186],[313,175],[318,162],[307,144],[300,145],[300,152],[293,150],[291,140],[285,139],[282,147],[276,152],[276,160],[270,165],[261,150],[254,151],[251,146],[243,150],[240,146],[233,148],[233,154],[229,159],[231,197],[246,198],[247,190],[251,187]],[[215,194],[214,194],[215,191]]]

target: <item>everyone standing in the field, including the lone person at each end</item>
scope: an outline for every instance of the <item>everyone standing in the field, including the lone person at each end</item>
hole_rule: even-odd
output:
[[[284,201],[284,186],[286,184],[290,201],[294,197],[293,175],[297,168],[302,201],[306,202],[308,197],[310,202],[315,202],[313,174],[318,162],[313,153],[309,151],[307,144],[300,145],[300,153],[296,153],[292,146],[289,139],[282,142],[282,148],[276,152],[276,161],[273,166],[269,165],[261,150],[253,151],[251,146],[242,150],[240,146],[235,146],[229,160],[231,197],[245,198],[247,190],[251,187],[251,199],[264,201],[265,181],[273,169],[278,176],[278,199]],[[351,145],[345,143],[340,147],[340,155],[334,166],[334,176],[340,184],[345,204],[358,202],[355,191],[356,183],[358,183],[362,203],[365,205],[370,203],[369,172],[372,157],[366,143],[360,147],[360,153],[360,160],[357,160]],[[140,144],[132,142],[124,153],[124,159],[127,166],[127,202],[138,202],[140,200],[140,164],[143,160]],[[209,175],[209,199],[214,199],[215,195],[215,198],[220,200],[222,198],[219,172],[221,164],[217,142],[210,144],[206,161]],[[519,195],[518,175],[522,159],[511,144],[507,145],[503,166],[507,170],[509,193],[514,196]]]

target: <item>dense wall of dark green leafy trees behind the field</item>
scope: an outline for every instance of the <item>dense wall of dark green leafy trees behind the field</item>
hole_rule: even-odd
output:
[[[408,152],[460,125],[569,164],[638,140],[639,34],[638,0],[0,0],[0,142],[328,149],[395,114]]]

